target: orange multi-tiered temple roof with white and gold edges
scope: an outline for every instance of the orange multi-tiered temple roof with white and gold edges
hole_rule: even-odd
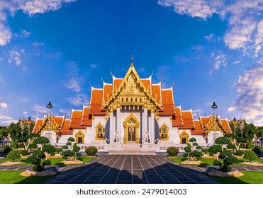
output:
[[[172,120],[172,126],[179,129],[191,129],[192,134],[207,134],[213,127],[214,117],[198,117],[194,120],[192,110],[181,110],[181,106],[176,107],[174,104],[173,87],[162,88],[160,83],[152,83],[152,75],[149,78],[140,78],[133,63],[130,65],[124,78],[116,78],[112,74],[112,83],[103,82],[102,88],[91,86],[91,100],[89,106],[83,106],[82,110],[73,110],[69,120],[65,117],[52,116],[50,123],[56,132],[60,134],[72,134],[73,129],[85,129],[91,127],[94,116],[107,116],[108,107],[111,105],[116,96],[123,90],[130,75],[133,75],[135,83],[140,90],[155,104],[155,116],[169,116]],[[216,117],[217,126],[224,133],[231,133],[228,120],[221,120]],[[41,132],[47,124],[47,117],[38,119],[35,122],[34,132]]]

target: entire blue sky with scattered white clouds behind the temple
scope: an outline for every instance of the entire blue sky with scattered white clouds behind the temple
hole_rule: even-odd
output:
[[[263,125],[263,4],[256,1],[0,0],[0,124],[89,104],[90,85],[134,65],[174,83],[183,110]]]

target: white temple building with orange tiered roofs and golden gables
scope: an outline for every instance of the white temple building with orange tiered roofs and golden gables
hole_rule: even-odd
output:
[[[112,83],[91,87],[91,100],[82,110],[72,110],[70,119],[47,115],[35,122],[33,132],[65,145],[74,137],[84,149],[96,146],[108,153],[157,153],[169,146],[183,149],[191,137],[200,146],[214,143],[218,136],[232,133],[228,120],[198,116],[174,103],[173,87],[162,88],[140,78],[133,61],[124,78],[112,74]]]

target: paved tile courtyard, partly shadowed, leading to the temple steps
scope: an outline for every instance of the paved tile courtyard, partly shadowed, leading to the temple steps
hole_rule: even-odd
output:
[[[69,168],[68,166],[65,168]],[[62,169],[60,169],[62,171]],[[211,184],[217,183],[196,170],[177,165],[162,156],[101,156],[91,163],[64,170],[46,183],[67,184]]]

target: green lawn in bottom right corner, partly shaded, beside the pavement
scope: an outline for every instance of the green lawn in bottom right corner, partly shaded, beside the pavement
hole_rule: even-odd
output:
[[[223,184],[263,184],[263,171],[240,171],[245,175],[242,177],[217,177],[207,175]]]

